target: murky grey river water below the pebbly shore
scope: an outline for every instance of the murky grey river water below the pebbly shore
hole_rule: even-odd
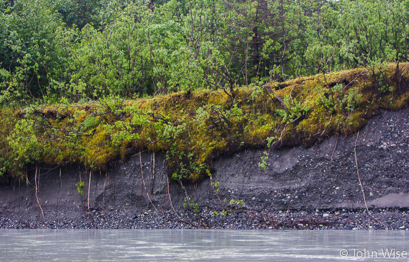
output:
[[[408,231],[0,230],[4,262],[407,262],[408,253]]]

